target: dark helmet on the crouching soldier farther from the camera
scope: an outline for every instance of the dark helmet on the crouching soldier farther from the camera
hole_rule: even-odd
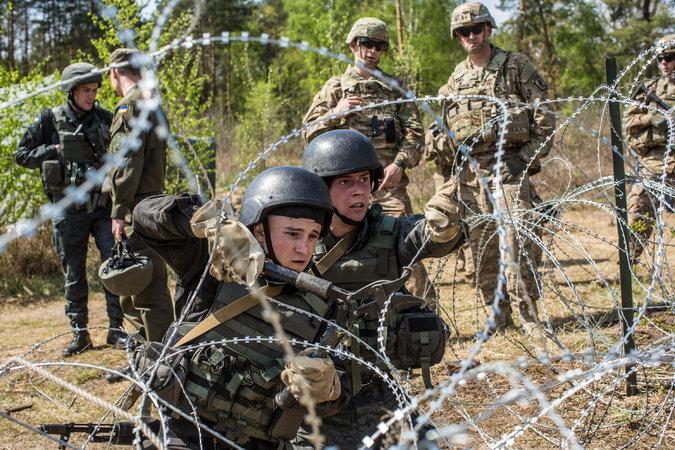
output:
[[[302,155],[302,167],[319,175],[327,184],[338,175],[367,170],[372,192],[384,178],[382,164],[370,139],[354,130],[333,130],[313,139]]]

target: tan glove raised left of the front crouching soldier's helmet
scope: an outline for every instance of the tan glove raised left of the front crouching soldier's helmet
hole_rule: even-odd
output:
[[[244,224],[233,217],[229,204],[211,200],[192,216],[190,226],[195,236],[209,240],[213,255],[209,273],[221,281],[234,281],[252,286],[260,276],[265,252]],[[226,211],[218,221],[221,211]]]

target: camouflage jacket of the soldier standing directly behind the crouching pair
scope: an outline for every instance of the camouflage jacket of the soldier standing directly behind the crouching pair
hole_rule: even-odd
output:
[[[394,79],[389,74],[384,75]],[[386,82],[375,78],[365,80],[356,73],[354,66],[349,66],[344,74],[328,80],[314,97],[302,120],[303,124],[312,124],[303,132],[305,141],[309,143],[330,130],[356,130],[368,136],[384,164],[397,160],[403,161],[408,168],[415,167],[424,144],[424,129],[417,105],[395,103],[367,108],[348,117],[331,118],[340,99],[349,96],[362,97],[364,107],[369,103],[402,98],[401,92]]]

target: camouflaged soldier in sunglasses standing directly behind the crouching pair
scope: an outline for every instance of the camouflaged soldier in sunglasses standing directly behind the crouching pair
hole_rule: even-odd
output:
[[[351,129],[363,133],[375,146],[384,167],[384,179],[373,192],[373,202],[382,205],[384,213],[390,216],[410,216],[413,210],[406,190],[409,179],[405,170],[419,163],[423,150],[424,129],[419,111],[414,103],[352,111],[357,106],[400,99],[401,93],[371,73],[379,70],[380,58],[389,49],[389,30],[384,22],[373,17],[358,19],[346,43],[357,65],[328,80],[316,94],[303,119],[303,124],[311,124],[303,136],[309,144],[329,130]],[[394,76],[384,75],[402,86]],[[409,286],[411,292],[423,297],[426,279],[424,266],[417,265]],[[427,294],[430,301],[435,298],[432,288]]]

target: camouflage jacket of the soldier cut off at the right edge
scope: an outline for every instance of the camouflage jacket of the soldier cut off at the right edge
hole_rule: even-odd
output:
[[[648,93],[654,93],[664,103],[675,106],[675,80],[659,78],[648,83]],[[648,94],[637,97],[637,101],[645,103]],[[657,107],[653,103],[649,106]],[[642,106],[630,106],[626,110],[626,141],[641,156],[650,152],[665,151],[668,145],[668,121],[666,117]]]

